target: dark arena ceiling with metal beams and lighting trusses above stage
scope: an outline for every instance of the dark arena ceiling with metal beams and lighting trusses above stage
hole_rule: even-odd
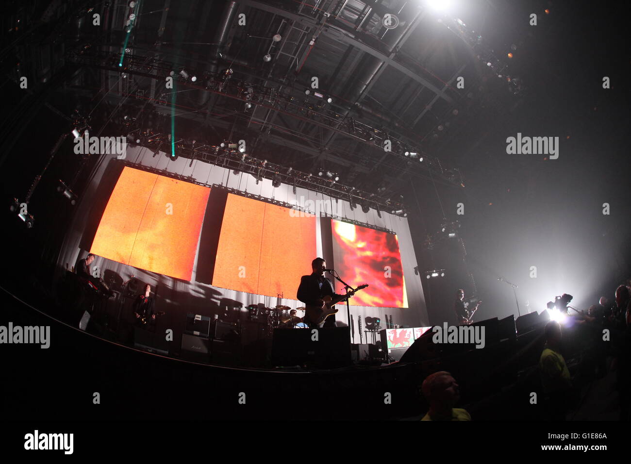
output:
[[[495,7],[472,3],[482,27]],[[501,114],[526,95],[478,25],[422,1],[27,1],[8,13],[5,71],[27,76],[61,114],[89,116],[93,131],[138,130],[156,144],[150,135],[170,133],[175,114],[179,155],[204,158],[192,140],[245,140],[249,157],[331,170],[380,198],[399,198],[410,175],[462,188],[458,137],[469,136],[480,106]]]

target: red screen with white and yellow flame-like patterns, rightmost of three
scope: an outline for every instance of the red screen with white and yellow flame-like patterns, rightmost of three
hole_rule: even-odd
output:
[[[399,241],[395,234],[331,220],[335,270],[349,285],[369,284],[352,306],[407,307]],[[343,293],[336,286],[336,293]]]

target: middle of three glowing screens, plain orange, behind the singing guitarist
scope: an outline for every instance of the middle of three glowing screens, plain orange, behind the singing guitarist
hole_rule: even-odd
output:
[[[295,299],[316,256],[315,217],[228,194],[215,260],[215,287]]]

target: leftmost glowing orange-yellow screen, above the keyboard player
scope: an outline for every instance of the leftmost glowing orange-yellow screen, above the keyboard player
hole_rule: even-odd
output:
[[[125,167],[90,253],[191,280],[208,187]]]

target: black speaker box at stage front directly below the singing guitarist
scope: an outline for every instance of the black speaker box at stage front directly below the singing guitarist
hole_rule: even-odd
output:
[[[272,365],[309,366],[335,369],[351,364],[351,342],[348,327],[317,329],[275,329],[272,344]]]

